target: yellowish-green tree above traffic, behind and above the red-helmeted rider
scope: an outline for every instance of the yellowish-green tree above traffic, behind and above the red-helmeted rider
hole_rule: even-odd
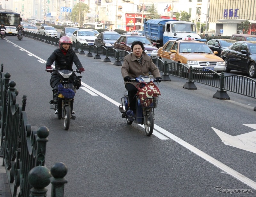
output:
[[[82,27],[84,24],[84,18],[86,17],[87,13],[90,13],[89,6],[82,2],[77,3],[74,5],[72,12],[70,13],[70,19],[74,23],[79,23],[79,12],[80,12],[80,23],[78,24],[79,27]]]

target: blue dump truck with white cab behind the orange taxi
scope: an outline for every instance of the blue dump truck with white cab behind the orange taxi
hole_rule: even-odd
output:
[[[196,33],[196,24],[187,21],[174,19],[149,19],[144,22],[144,36],[151,42],[156,43],[156,47],[162,47],[168,40],[183,39],[193,37],[199,41],[206,41]]]

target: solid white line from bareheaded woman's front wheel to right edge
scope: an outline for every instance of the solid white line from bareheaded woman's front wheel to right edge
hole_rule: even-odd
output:
[[[187,148],[188,150],[190,150],[191,152],[195,153],[196,155],[198,155],[199,157],[202,157],[203,159],[205,159],[206,161],[210,162],[211,164],[215,165],[216,167],[220,168],[221,170],[227,172],[228,174],[230,174],[231,176],[235,177],[236,179],[240,180],[241,182],[243,182],[244,184],[252,187],[253,189],[256,190],[256,183],[245,177],[243,174],[240,174],[239,172],[233,170],[232,168],[228,167],[227,165],[221,163],[220,161],[218,161],[217,159],[214,159],[213,157],[211,157],[210,155],[207,155],[206,153],[204,153],[203,151],[197,149],[196,147],[190,145],[188,142],[183,141],[182,139],[180,139],[179,137],[169,133],[168,131],[164,130],[163,128],[154,125],[154,128],[156,128],[156,130],[158,130],[159,132],[161,132],[162,134],[166,135],[167,137],[169,137],[170,139],[174,140],[175,142],[179,143],[180,145],[184,146],[185,148]]]

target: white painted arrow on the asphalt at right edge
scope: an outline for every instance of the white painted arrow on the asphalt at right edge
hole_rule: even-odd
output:
[[[249,126],[251,128],[256,128],[256,124],[244,124],[245,126]],[[233,146],[238,149],[250,151],[252,153],[256,153],[256,131],[252,131],[249,133],[232,136],[227,133],[224,133],[216,128],[212,129],[215,131],[217,135],[219,135],[222,142],[228,146]]]

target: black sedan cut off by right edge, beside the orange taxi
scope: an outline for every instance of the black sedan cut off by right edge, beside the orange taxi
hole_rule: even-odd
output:
[[[220,57],[225,62],[224,72],[238,70],[256,78],[256,41],[238,41],[224,49]]]

